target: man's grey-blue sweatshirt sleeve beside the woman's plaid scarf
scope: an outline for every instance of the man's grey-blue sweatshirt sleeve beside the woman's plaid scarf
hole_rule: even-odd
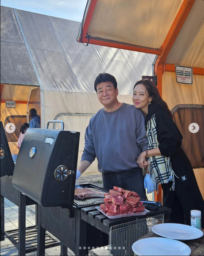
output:
[[[148,146],[148,139],[147,139],[147,131],[145,129],[144,125],[144,116],[142,114],[142,111],[138,111],[137,113],[138,117],[136,119],[136,141],[138,144],[138,147],[141,149],[141,152],[145,151]]]

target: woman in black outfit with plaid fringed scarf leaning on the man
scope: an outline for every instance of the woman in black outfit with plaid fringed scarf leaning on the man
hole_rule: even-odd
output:
[[[181,149],[183,137],[166,102],[148,79],[136,82],[132,100],[146,118],[148,150],[137,160],[145,168],[149,157],[144,187],[152,192],[162,185],[163,205],[172,209],[170,222],[190,225],[190,211],[196,209],[201,211],[204,228],[204,200],[191,163]]]

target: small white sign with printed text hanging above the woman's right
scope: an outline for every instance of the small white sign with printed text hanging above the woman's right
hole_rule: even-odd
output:
[[[175,65],[176,81],[179,84],[193,84],[193,67]]]

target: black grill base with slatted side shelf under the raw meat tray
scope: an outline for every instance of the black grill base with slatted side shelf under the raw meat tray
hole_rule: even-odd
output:
[[[88,183],[87,183],[88,184]],[[84,185],[84,184],[80,184]],[[93,184],[88,184],[94,186]],[[101,187],[94,186],[102,189]],[[171,209],[161,206],[146,215],[128,218],[108,219],[95,206],[42,207],[38,211],[38,250],[37,255],[45,255],[44,237],[46,230],[54,235],[76,255],[87,255],[92,247],[101,247],[109,244],[111,227],[139,219],[164,215],[164,222],[170,220]],[[90,237],[90,234],[93,236]],[[94,240],[95,239],[95,240]],[[40,243],[39,243],[40,241]]]

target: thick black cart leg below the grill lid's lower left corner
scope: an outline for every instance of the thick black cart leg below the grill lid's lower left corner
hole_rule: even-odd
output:
[[[25,206],[26,196],[18,191],[18,255],[25,255]]]

